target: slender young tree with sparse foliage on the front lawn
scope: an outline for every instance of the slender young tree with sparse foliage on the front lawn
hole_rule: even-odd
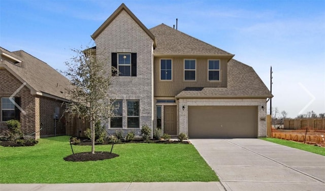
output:
[[[115,110],[108,94],[107,62],[98,58],[91,48],[72,51],[75,55],[65,62],[68,69],[62,72],[71,81],[67,93],[72,103],[67,103],[65,112],[90,120],[91,153],[94,154],[95,124],[112,117]]]

